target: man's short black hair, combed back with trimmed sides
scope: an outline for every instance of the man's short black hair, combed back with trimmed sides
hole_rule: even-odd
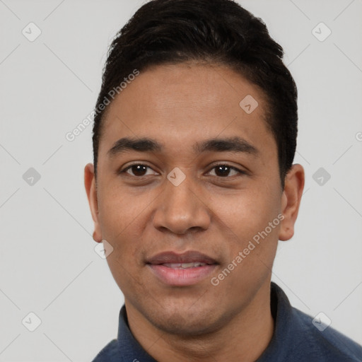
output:
[[[267,126],[278,148],[281,188],[293,164],[298,133],[296,83],[284,65],[283,48],[264,22],[232,0],[151,0],[141,6],[110,45],[95,106],[93,160],[107,95],[134,70],[202,61],[238,71],[267,99]]]

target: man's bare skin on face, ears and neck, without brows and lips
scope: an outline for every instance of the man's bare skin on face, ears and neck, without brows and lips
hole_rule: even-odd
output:
[[[248,115],[240,100],[259,103]],[[274,328],[271,267],[278,240],[293,236],[304,170],[293,165],[281,190],[277,147],[264,121],[264,94],[226,66],[184,63],[141,72],[108,106],[98,153],[98,175],[85,168],[85,186],[98,243],[124,294],[129,327],[157,361],[255,361]],[[107,151],[118,139],[149,137],[162,151]],[[196,142],[243,137],[257,155],[194,153]],[[128,170],[149,166],[146,175]],[[220,175],[216,163],[230,169]],[[167,179],[180,168],[177,187]],[[218,276],[253,236],[279,214],[284,220],[218,286]],[[194,286],[161,283],[145,264],[159,252],[197,250],[216,259],[210,277]]]

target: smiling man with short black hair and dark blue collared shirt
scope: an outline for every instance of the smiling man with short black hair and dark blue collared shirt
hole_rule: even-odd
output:
[[[124,306],[102,361],[362,361],[271,283],[293,236],[297,91],[230,0],[154,0],[115,37],[85,185]]]

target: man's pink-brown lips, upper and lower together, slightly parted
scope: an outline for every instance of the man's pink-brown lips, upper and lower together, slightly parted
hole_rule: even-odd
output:
[[[203,266],[170,267],[164,264],[204,263]],[[178,254],[177,252],[161,252],[146,260],[147,267],[163,284],[168,286],[192,286],[206,279],[217,267],[215,259],[194,250]]]

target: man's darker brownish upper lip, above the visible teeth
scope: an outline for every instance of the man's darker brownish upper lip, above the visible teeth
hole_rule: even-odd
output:
[[[208,257],[207,255],[202,254],[202,252],[197,252],[194,250],[189,250],[187,252],[182,252],[182,254],[177,252],[160,252],[159,254],[154,255],[146,259],[147,264],[166,264],[166,263],[192,263],[192,262],[202,262],[206,264],[218,264],[215,259]]]

